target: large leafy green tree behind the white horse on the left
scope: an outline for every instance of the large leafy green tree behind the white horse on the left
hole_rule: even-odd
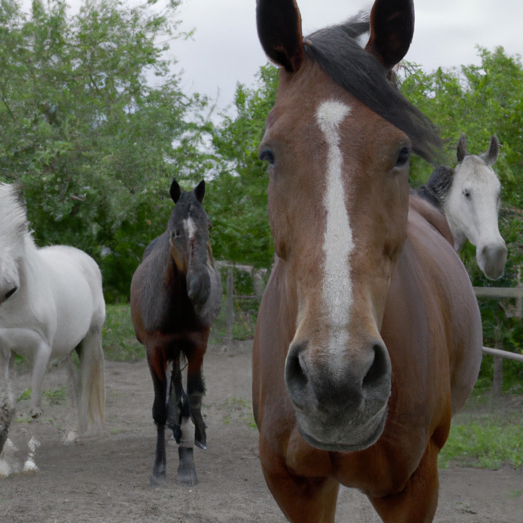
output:
[[[0,177],[24,189],[41,245],[75,245],[103,271],[106,298],[126,298],[145,245],[165,229],[173,177],[201,179],[207,101],[169,74],[179,0],[127,7],[86,0],[0,0]],[[155,86],[146,73],[157,77]]]

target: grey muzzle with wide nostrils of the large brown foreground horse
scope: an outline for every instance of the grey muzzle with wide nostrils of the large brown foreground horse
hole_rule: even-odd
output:
[[[385,426],[391,393],[391,362],[383,342],[375,340],[339,358],[292,343],[285,382],[298,428],[309,445],[349,452],[373,445]],[[315,356],[314,356],[315,355]],[[321,357],[318,357],[322,355]],[[336,365],[332,361],[338,360]]]

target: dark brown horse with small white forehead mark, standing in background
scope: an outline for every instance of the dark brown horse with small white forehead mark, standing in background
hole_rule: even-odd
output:
[[[166,424],[178,443],[180,482],[198,483],[191,419],[196,445],[206,448],[201,415],[205,394],[202,362],[210,325],[220,312],[222,291],[209,243],[210,221],[201,204],[204,194],[204,181],[186,192],[173,180],[170,196],[176,206],[167,230],[147,246],[131,283],[134,331],[145,345],[154,385],[157,440],[153,484],[165,480]],[[187,393],[182,386],[181,355],[187,359]],[[169,390],[168,361],[173,362]]]

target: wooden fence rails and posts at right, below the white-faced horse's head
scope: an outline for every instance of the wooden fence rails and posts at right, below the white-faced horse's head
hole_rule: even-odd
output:
[[[518,274],[518,281],[521,281],[521,276]],[[476,298],[515,298],[516,306],[511,315],[518,318],[521,317],[523,309],[523,285],[518,283],[517,287],[474,287]],[[503,337],[501,333],[496,333],[496,348],[483,347],[484,354],[494,356],[494,394],[501,394],[501,385],[503,382],[503,359],[511,359],[521,361],[523,363],[523,354],[510,353],[508,350],[503,350]]]

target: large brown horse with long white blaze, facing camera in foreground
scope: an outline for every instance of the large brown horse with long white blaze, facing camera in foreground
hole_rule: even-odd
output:
[[[294,523],[333,522],[339,483],[386,522],[432,521],[437,455],[481,360],[479,309],[444,216],[409,197],[440,141],[393,85],[412,0],[376,0],[306,39],[294,0],[258,0],[281,65],[260,158],[276,263],[253,352],[265,479]]]

